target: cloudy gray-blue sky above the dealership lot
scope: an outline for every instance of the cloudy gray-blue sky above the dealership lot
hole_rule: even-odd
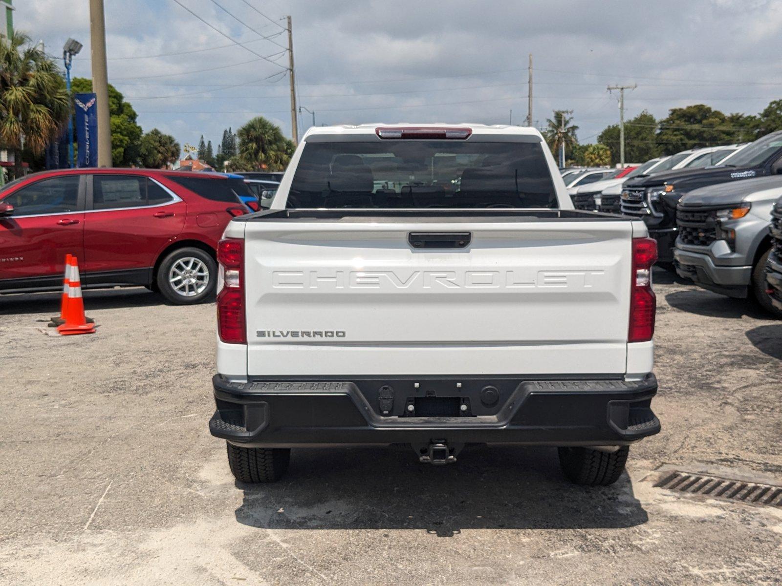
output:
[[[782,0],[105,2],[109,82],[145,130],[182,144],[204,134],[217,148],[258,114],[290,135],[287,14],[300,105],[319,126],[508,123],[511,109],[522,123],[529,53],[533,120],[572,109],[582,142],[619,120],[608,84],[638,84],[630,117],[691,103],[757,113],[782,98]],[[14,4],[16,29],[48,52],[84,43],[74,75],[90,77],[88,0]],[[304,112],[300,132],[311,123]]]

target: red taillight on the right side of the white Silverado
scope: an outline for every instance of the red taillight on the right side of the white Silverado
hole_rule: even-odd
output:
[[[633,282],[630,286],[630,330],[627,341],[649,341],[655,335],[657,298],[651,289],[651,266],[657,261],[657,241],[633,238]]]

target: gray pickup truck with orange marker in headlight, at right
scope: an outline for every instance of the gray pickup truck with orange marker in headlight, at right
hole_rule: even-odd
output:
[[[780,195],[779,176],[709,185],[684,195],[676,209],[676,273],[709,291],[751,297],[782,318],[766,284],[771,211]]]

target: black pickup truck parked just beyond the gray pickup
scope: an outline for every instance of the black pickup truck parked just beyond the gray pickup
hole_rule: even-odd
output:
[[[657,240],[658,265],[670,265],[677,236],[676,205],[684,194],[707,185],[778,173],[782,173],[782,130],[759,138],[721,166],[655,173],[626,181],[622,214],[643,218],[649,235]]]

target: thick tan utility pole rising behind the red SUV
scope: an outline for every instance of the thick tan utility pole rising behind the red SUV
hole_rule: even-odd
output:
[[[92,91],[98,106],[98,166],[111,166],[111,123],[109,119],[109,71],[106,66],[106,16],[103,0],[90,0],[90,47]]]

